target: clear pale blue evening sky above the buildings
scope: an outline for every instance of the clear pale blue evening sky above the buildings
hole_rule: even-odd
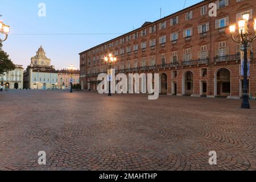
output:
[[[187,0],[185,7],[201,0]],[[3,49],[15,64],[24,68],[43,46],[56,69],[74,64],[78,53],[109,39],[182,10],[185,0],[1,0],[0,19],[10,25]],[[38,16],[39,3],[46,4],[46,17]],[[146,6],[145,6],[146,5]],[[32,35],[31,35],[32,34]],[[34,34],[34,35],[33,35]],[[70,34],[70,35],[40,35]],[[105,35],[72,35],[105,34]]]

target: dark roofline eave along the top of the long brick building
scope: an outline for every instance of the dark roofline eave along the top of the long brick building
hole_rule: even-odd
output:
[[[88,51],[90,51],[90,50],[92,50],[92,49],[101,47],[101,46],[103,46],[103,45],[106,44],[106,43],[109,43],[109,42],[112,42],[112,41],[115,40],[115,39],[121,38],[122,36],[125,36],[125,35],[127,35],[127,34],[131,34],[132,32],[138,31],[138,30],[143,29],[143,28],[150,27],[152,24],[155,24],[155,23],[157,23],[157,22],[159,22],[159,21],[161,21],[161,20],[163,20],[163,19],[170,18],[170,16],[174,16],[175,14],[179,14],[179,13],[181,13],[182,11],[191,9],[191,8],[194,7],[194,6],[198,6],[198,5],[200,5],[201,3],[207,2],[207,1],[211,2],[211,1],[213,1],[213,0],[202,0],[201,2],[198,2],[198,3],[196,3],[195,5],[186,7],[185,9],[179,10],[179,11],[173,13],[173,14],[170,14],[170,15],[168,15],[168,16],[165,16],[164,18],[160,18],[160,19],[158,19],[158,20],[155,20],[154,22],[151,22],[151,23],[147,24],[147,25],[144,26],[144,27],[139,27],[139,28],[137,28],[137,29],[135,29],[135,30],[133,30],[133,31],[127,32],[127,33],[125,33],[125,34],[122,34],[122,35],[120,35],[120,36],[118,36],[118,37],[116,37],[116,38],[114,38],[114,39],[108,40],[108,41],[106,41],[106,42],[104,42],[104,43],[98,44],[97,46],[94,46],[94,47],[92,47],[92,48],[86,49],[86,51],[80,52],[79,55],[81,55],[82,53],[88,52]]]

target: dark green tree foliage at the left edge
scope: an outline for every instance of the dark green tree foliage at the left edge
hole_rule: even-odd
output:
[[[2,49],[3,44],[0,42],[0,75],[15,69],[15,65],[9,59],[9,55]]]

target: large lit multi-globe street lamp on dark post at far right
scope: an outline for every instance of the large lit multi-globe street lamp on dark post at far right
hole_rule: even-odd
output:
[[[248,71],[248,63],[247,63],[247,47],[249,47],[250,43],[252,43],[256,39],[256,18],[254,19],[254,31],[255,35],[253,38],[249,37],[249,17],[250,14],[245,13],[242,15],[242,19],[238,21],[238,34],[240,35],[240,40],[236,40],[234,33],[236,32],[236,24],[232,24],[229,26],[229,31],[232,34],[232,39],[236,43],[240,43],[243,49],[243,102],[241,105],[242,109],[250,109],[249,104],[249,94],[248,94],[248,80],[247,80],[247,71]]]

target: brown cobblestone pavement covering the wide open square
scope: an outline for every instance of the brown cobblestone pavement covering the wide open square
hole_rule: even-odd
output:
[[[256,101],[0,93],[0,170],[256,170]],[[38,152],[47,165],[39,166]],[[210,166],[209,151],[217,152]]]

